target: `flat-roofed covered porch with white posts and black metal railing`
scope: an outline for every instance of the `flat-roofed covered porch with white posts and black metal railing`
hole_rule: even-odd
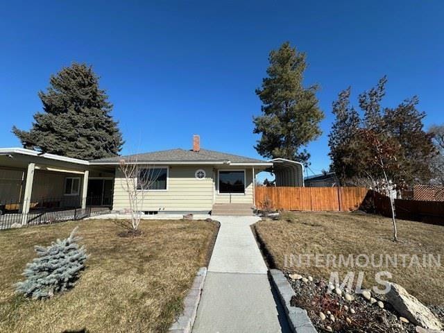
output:
[[[26,224],[48,212],[110,208],[112,176],[112,170],[92,169],[83,160],[0,149],[0,219],[15,214],[11,221]]]

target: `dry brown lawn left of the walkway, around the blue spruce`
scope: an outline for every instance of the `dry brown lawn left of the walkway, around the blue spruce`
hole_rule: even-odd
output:
[[[33,246],[65,238],[78,225],[87,268],[76,287],[50,300],[26,300],[22,280]],[[60,223],[0,232],[0,332],[164,332],[205,257],[215,230],[205,221],[142,221],[141,237],[121,238],[113,221]]]

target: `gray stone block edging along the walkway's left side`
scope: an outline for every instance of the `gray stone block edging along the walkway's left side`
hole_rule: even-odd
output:
[[[200,301],[200,293],[202,292],[203,282],[207,276],[207,268],[201,267],[194,278],[191,290],[187,297],[183,300],[184,309],[176,322],[169,327],[170,333],[191,333],[191,329],[196,319],[197,307]]]

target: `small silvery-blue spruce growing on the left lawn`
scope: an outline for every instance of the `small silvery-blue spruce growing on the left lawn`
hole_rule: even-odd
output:
[[[77,229],[67,239],[57,239],[50,246],[35,246],[38,257],[26,264],[26,280],[16,284],[17,293],[42,299],[74,286],[87,259],[85,246],[76,244],[80,240],[75,236]]]

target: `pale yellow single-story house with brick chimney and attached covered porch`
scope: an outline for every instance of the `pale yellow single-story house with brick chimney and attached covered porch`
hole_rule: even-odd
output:
[[[28,213],[49,207],[106,206],[128,210],[125,178],[119,163],[135,156],[78,160],[24,148],[0,148],[0,209]],[[303,186],[302,164],[271,161],[200,148],[194,136],[190,150],[137,154],[137,164],[155,172],[141,210],[146,214],[230,212],[255,205],[257,173],[275,169],[280,186]],[[3,208],[2,208],[3,207]]]

